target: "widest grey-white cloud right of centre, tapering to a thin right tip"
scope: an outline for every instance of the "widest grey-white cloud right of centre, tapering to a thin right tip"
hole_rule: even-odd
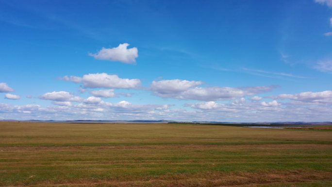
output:
[[[240,98],[246,95],[269,91],[274,86],[258,87],[197,87],[201,81],[187,80],[162,80],[153,81],[151,84],[152,92],[163,98],[176,98],[184,100],[215,101],[232,98]]]

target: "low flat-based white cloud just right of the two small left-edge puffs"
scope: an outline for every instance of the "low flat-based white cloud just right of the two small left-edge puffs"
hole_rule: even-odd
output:
[[[81,102],[83,100],[82,98],[74,96],[66,91],[48,92],[40,96],[39,98],[43,100],[51,100],[56,102]]]

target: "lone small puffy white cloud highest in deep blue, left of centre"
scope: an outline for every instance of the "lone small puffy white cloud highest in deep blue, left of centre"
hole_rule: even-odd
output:
[[[89,53],[89,55],[98,60],[119,61],[126,64],[134,64],[138,57],[138,50],[135,47],[127,49],[128,46],[129,44],[127,43],[119,44],[116,48],[102,48],[98,53]]]

